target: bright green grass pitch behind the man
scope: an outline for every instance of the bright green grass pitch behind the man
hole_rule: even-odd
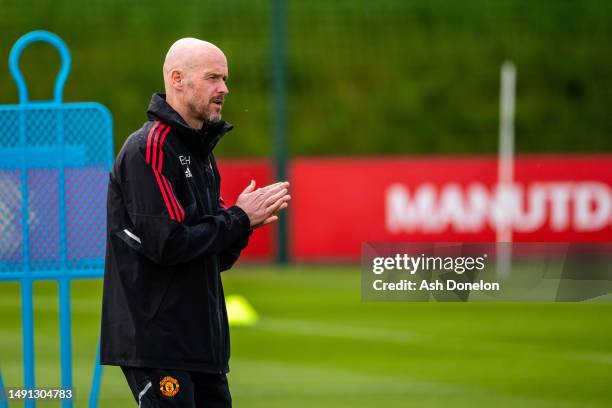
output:
[[[612,304],[364,303],[356,266],[223,277],[226,294],[245,296],[260,316],[231,329],[236,407],[612,406]],[[35,286],[39,387],[60,383],[56,293],[53,282]],[[85,407],[101,281],[75,282],[72,294],[75,406]],[[0,284],[0,319],[5,386],[20,386],[17,283]],[[114,367],[99,406],[136,406]]]

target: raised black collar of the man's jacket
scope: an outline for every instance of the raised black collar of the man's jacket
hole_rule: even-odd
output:
[[[181,140],[191,148],[203,149],[208,155],[221,137],[234,128],[229,122],[204,122],[201,129],[194,129],[166,102],[166,95],[154,93],[147,109],[147,116],[151,120],[160,120],[170,125],[173,133],[179,135]]]

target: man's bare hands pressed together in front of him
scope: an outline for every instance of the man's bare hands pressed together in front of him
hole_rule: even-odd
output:
[[[287,208],[291,196],[289,182],[281,181],[255,189],[255,181],[244,189],[236,200],[251,221],[251,228],[258,228],[278,220],[278,213]]]

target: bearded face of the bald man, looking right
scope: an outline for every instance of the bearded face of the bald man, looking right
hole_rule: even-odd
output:
[[[186,73],[185,103],[193,117],[210,122],[221,120],[221,109],[229,90],[224,56],[209,58]]]

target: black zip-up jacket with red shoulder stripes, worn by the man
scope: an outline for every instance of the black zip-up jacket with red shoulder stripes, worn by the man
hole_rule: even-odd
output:
[[[109,177],[101,363],[226,373],[220,272],[250,236],[248,216],[219,202],[212,149],[231,125],[191,129],[163,95],[149,117]]]

